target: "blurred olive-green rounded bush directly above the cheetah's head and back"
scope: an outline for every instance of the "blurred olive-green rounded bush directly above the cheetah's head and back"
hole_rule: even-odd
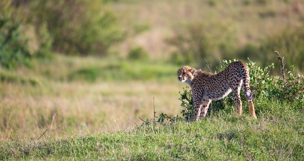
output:
[[[173,28],[173,32],[166,42],[176,49],[170,59],[175,64],[201,64],[205,58],[214,64],[219,57],[233,57],[238,45],[231,24],[195,22]]]

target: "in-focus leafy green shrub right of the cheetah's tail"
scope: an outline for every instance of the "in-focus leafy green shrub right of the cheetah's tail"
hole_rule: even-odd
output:
[[[222,60],[221,68],[227,67],[231,62],[232,60]],[[250,68],[250,87],[254,97],[295,103],[304,102],[304,76],[296,73],[294,65],[290,66],[289,70],[284,69],[289,74],[285,83],[280,76],[270,76],[270,70],[274,68],[273,63],[260,67],[249,60],[247,65]]]

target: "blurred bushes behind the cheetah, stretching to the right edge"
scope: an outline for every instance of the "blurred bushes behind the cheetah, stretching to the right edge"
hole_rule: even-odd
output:
[[[174,64],[189,64],[197,62],[204,64],[205,59],[210,64],[218,61],[218,58],[227,59],[240,58],[259,62],[266,66],[269,62],[274,62],[273,51],[278,50],[285,53],[287,65],[296,64],[300,71],[304,69],[304,26],[297,28],[287,28],[279,33],[266,35],[259,43],[248,42],[238,46],[234,32],[230,32],[224,26],[216,26],[216,30],[226,32],[226,37],[217,33],[208,32],[208,27],[201,23],[187,24],[174,30],[174,36],[168,38],[166,42],[175,47],[171,53],[171,62]],[[214,30],[214,29],[213,29]],[[231,35],[231,36],[229,36]]]

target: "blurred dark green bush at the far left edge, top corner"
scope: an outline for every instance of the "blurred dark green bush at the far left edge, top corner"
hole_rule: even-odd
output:
[[[11,69],[27,64],[30,58],[28,41],[21,31],[17,10],[11,8],[11,1],[0,2],[0,66]]]

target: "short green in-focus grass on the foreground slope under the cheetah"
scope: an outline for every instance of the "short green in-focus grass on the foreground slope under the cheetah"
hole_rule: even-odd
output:
[[[264,101],[263,106],[258,120],[214,112],[193,123],[151,123],[129,132],[2,142],[0,159],[303,160],[303,112],[277,101]]]

